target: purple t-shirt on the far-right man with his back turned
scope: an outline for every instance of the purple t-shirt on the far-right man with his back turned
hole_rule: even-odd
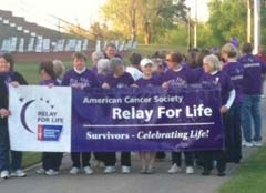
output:
[[[243,93],[248,95],[259,95],[262,93],[263,78],[266,72],[266,64],[257,57],[246,54],[238,59],[243,65]]]

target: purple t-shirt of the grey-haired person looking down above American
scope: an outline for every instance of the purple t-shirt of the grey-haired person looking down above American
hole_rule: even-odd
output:
[[[119,78],[109,74],[104,82],[109,83],[111,88],[126,88],[134,83],[134,79],[129,72],[124,72],[124,74]]]

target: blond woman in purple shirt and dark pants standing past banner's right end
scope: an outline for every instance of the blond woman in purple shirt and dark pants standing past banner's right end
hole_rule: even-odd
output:
[[[241,111],[243,103],[243,67],[236,61],[238,51],[232,43],[226,43],[222,48],[222,58],[225,63],[222,71],[229,75],[236,91],[236,98],[229,111],[225,115],[225,135],[227,142],[227,162],[239,163],[242,159],[242,121]]]

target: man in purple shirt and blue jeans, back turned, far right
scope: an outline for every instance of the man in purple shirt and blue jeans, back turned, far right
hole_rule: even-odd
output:
[[[243,55],[238,59],[243,71],[243,93],[244,102],[242,110],[242,123],[245,146],[262,145],[262,118],[260,118],[260,94],[263,78],[266,72],[266,64],[257,57],[252,54],[253,45],[244,43],[242,48]],[[252,136],[252,118],[254,121],[254,136]]]

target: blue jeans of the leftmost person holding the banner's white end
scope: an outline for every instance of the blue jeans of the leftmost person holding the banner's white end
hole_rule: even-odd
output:
[[[11,153],[11,163],[9,159],[9,153]],[[22,152],[11,151],[9,145],[9,132],[8,126],[0,126],[0,171],[11,170],[16,171],[21,169],[22,163]]]

